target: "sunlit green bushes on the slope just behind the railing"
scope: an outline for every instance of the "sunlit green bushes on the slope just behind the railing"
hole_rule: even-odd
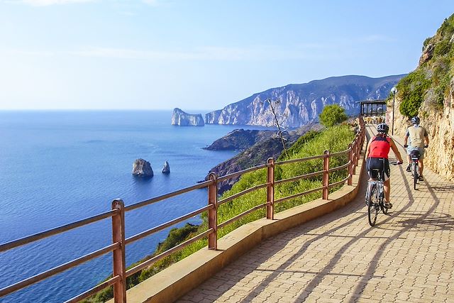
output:
[[[324,129],[323,131],[309,131],[301,136],[294,145],[288,150],[288,155],[282,153],[278,161],[281,160],[289,160],[295,158],[306,158],[311,155],[321,155],[323,154],[324,150],[330,150],[331,153],[336,153],[341,150],[345,150],[348,148],[348,144],[353,141],[355,137],[355,133],[353,132],[351,126],[348,124],[343,125],[336,125],[329,128]],[[338,165],[342,165],[347,162],[347,155],[338,155],[334,156],[330,160],[330,167],[336,167]],[[315,172],[323,170],[323,162],[318,160],[309,160],[306,162],[299,162],[299,163],[292,163],[292,164],[284,164],[284,165],[277,165],[275,169],[275,179],[282,180],[289,177],[294,177],[297,175],[303,175],[309,172]],[[233,185],[233,187],[224,192],[219,199],[224,199],[226,197],[231,197],[233,194],[237,194],[238,192],[243,191],[244,189],[248,189],[258,184],[264,184],[266,182],[266,169],[256,170],[253,172],[248,172],[240,177],[240,180]],[[338,172],[333,172],[330,175],[330,182],[336,182],[338,180],[342,180],[347,175],[345,170],[340,170]],[[278,184],[275,186],[275,199],[279,199],[281,197],[287,197],[290,194],[295,194],[298,192],[304,192],[309,189],[314,189],[321,186],[321,176],[314,177],[310,180],[298,180],[296,182],[288,182],[283,184]],[[331,189],[336,190],[336,188]],[[297,199],[292,199],[287,202],[282,202],[280,204],[275,205],[275,212],[284,211],[285,209],[292,208],[297,205],[304,204],[314,199],[318,199],[321,197],[320,192],[314,192],[312,194],[308,194],[304,197],[299,197]],[[218,224],[221,224],[228,219],[233,218],[243,211],[253,208],[254,206],[258,206],[259,204],[263,204],[266,201],[266,189],[258,189],[254,192],[250,192],[248,194],[243,195],[237,199],[233,199],[231,202],[227,202],[225,204],[221,204],[218,207]],[[249,214],[248,216],[244,216],[243,218],[239,219],[238,221],[229,224],[223,228],[218,229],[218,238],[225,236],[227,233],[233,231],[234,229],[242,226],[243,224],[247,224],[248,222],[255,221],[257,219],[265,217],[265,209],[258,209],[253,213]],[[199,226],[194,226],[191,224],[186,224],[183,228],[174,228],[170,231],[169,236],[167,239],[160,243],[157,247],[155,253],[150,255],[145,260],[152,258],[154,255],[158,255],[163,251],[172,248],[179,243],[186,241],[188,238],[192,238],[196,236],[196,234],[202,233],[206,231],[208,227],[208,219],[206,215],[202,215],[202,223]],[[167,268],[168,266],[176,263],[179,260],[195,253],[197,250],[204,248],[207,246],[207,240],[202,239],[200,241],[196,241],[189,246],[186,246],[184,249],[178,251],[177,253],[173,253],[172,255],[163,258],[162,260],[158,261],[157,263],[153,264],[149,268],[142,270],[141,272],[128,277],[127,280],[127,287],[131,288],[134,285],[137,285],[140,282],[148,279],[155,275],[157,272]],[[144,260],[142,260],[144,261]],[[136,264],[134,264],[136,265]],[[133,267],[134,265],[131,265]],[[91,297],[86,300],[86,302],[105,302],[107,299],[111,298],[113,295],[112,288],[109,287],[108,289],[99,292],[96,296]]]

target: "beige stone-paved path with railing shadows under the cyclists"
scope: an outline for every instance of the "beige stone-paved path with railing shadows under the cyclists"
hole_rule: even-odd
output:
[[[363,178],[354,202],[264,241],[179,302],[454,302],[454,184],[425,168],[415,191],[405,166],[392,165],[394,207],[374,227]]]

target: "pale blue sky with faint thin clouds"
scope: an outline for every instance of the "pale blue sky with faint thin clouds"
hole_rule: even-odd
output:
[[[0,0],[0,109],[219,109],[414,70],[440,1]]]

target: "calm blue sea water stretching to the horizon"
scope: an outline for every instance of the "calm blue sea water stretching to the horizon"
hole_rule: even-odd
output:
[[[0,243],[109,211],[115,198],[130,205],[191,186],[236,154],[202,148],[238,126],[172,126],[171,116],[170,111],[0,111]],[[153,178],[131,175],[137,158],[151,162]],[[160,172],[166,160],[170,175]],[[126,237],[206,205],[206,195],[198,189],[129,211]],[[126,246],[127,265],[153,253],[168,232]],[[0,253],[0,288],[109,243],[111,221],[105,219]],[[64,302],[104,280],[111,266],[109,253],[0,302]]]

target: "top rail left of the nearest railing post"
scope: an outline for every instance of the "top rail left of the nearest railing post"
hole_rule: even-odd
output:
[[[102,214],[99,214],[99,215],[96,215],[96,216],[92,216],[92,217],[89,217],[87,219],[82,219],[80,221],[76,221],[76,222],[73,222],[73,223],[70,223],[70,224],[66,224],[66,225],[62,225],[62,226],[58,226],[58,227],[49,229],[48,231],[35,233],[34,235],[31,235],[31,236],[26,236],[26,237],[19,238],[19,239],[14,240],[14,241],[7,242],[7,243],[4,243],[4,244],[0,245],[0,252],[5,251],[5,250],[10,250],[10,249],[16,248],[18,246],[23,246],[25,244],[32,243],[32,242],[41,240],[43,238],[48,238],[50,236],[57,235],[58,233],[63,233],[65,231],[70,231],[71,229],[74,229],[74,228],[77,228],[77,227],[80,227],[80,226],[84,226],[84,225],[87,225],[87,224],[92,224],[92,223],[94,223],[96,221],[101,221],[102,219],[106,219],[106,218],[109,218],[111,216],[115,216],[117,213],[118,213],[117,210],[106,211],[106,212],[104,212]]]

